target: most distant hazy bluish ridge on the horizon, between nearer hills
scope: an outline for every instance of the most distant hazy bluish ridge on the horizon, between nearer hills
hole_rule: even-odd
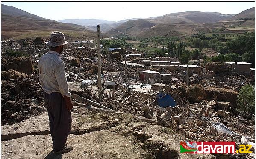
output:
[[[64,19],[64,20],[59,20],[58,22],[73,23],[81,26],[97,26],[98,24],[101,24],[101,23],[105,23],[105,24],[114,23],[114,21],[101,20],[101,19]]]

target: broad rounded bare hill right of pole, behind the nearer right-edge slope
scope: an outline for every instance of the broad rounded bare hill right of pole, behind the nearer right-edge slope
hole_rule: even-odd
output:
[[[187,11],[171,13],[160,17],[129,20],[120,26],[113,28],[109,34],[118,34],[120,31],[140,37],[173,36],[174,34],[191,34],[195,24],[212,23],[232,17],[215,12]],[[184,26],[179,28],[179,25]],[[166,28],[167,27],[167,28]],[[144,33],[145,31],[145,33]]]

